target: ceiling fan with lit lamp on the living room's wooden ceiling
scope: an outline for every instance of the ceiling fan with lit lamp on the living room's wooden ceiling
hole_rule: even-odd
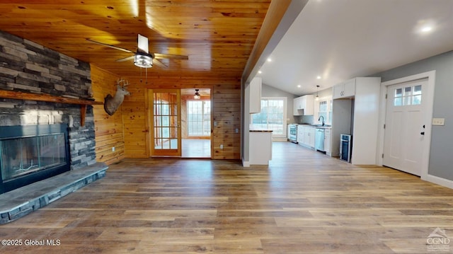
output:
[[[179,54],[149,53],[148,37],[145,37],[140,34],[138,35],[137,52],[133,52],[132,50],[127,50],[122,47],[116,47],[114,45],[108,45],[103,42],[96,42],[96,40],[91,40],[88,38],[86,40],[88,40],[90,42],[94,42],[99,45],[106,46],[106,47],[111,47],[115,50],[121,50],[124,52],[132,53],[132,54],[134,54],[133,56],[125,57],[122,59],[117,59],[116,62],[124,62],[124,61],[134,59],[134,64],[137,67],[142,67],[142,68],[151,68],[151,67],[153,67],[153,64],[156,64],[157,66],[159,66],[161,68],[167,68],[167,66],[165,64],[163,64],[162,62],[160,62],[158,59],[164,59],[164,58],[166,58],[166,59],[183,59],[183,60],[189,59],[188,56],[183,56],[183,55],[179,55]]]

